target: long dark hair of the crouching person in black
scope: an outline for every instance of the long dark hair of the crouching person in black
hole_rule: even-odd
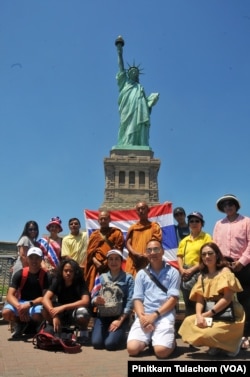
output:
[[[66,264],[69,264],[74,271],[72,285],[76,288],[77,292],[80,294],[82,285],[85,284],[85,281],[83,278],[82,269],[74,259],[64,259],[57,267],[56,279],[59,283],[58,284],[59,291],[62,291],[65,287],[65,281],[63,279],[63,269]]]

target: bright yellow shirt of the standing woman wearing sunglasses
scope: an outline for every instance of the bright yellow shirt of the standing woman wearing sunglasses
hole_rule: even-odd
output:
[[[207,243],[211,242],[212,237],[210,234],[205,232],[200,232],[198,237],[192,239],[190,235],[183,238],[179,243],[177,257],[183,259],[183,265],[194,266],[199,264],[200,259],[200,249]]]

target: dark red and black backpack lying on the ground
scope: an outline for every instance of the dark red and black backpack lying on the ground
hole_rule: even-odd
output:
[[[73,332],[65,331],[56,334],[52,325],[44,321],[38,333],[33,337],[33,345],[46,351],[63,351],[65,353],[81,352],[81,344],[77,343]]]

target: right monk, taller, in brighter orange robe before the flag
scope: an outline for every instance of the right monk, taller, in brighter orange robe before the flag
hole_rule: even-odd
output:
[[[136,212],[140,220],[128,229],[126,237],[128,258],[125,267],[125,271],[134,277],[139,270],[145,268],[148,264],[148,258],[145,256],[148,241],[157,240],[161,242],[162,240],[160,225],[148,220],[149,207],[147,203],[137,203]]]

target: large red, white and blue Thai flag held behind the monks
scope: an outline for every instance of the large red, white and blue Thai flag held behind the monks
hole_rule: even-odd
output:
[[[98,223],[98,214],[98,211],[91,211],[88,209],[84,210],[88,236],[90,236],[94,230],[100,228]],[[124,234],[124,238],[126,237],[127,230],[130,225],[138,221],[138,215],[133,209],[110,211],[110,216],[110,226],[120,228]],[[178,242],[174,228],[172,203],[166,202],[164,204],[150,207],[149,220],[158,222],[162,228],[162,244],[165,252],[164,259],[175,267],[178,267],[176,257]],[[124,249],[123,254],[124,258],[126,259],[128,254],[127,249]]]

